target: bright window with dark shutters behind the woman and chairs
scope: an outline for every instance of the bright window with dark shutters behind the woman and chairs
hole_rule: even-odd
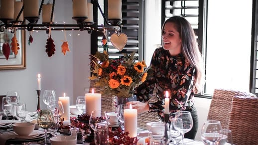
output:
[[[232,3],[236,6],[229,6]],[[162,3],[162,19],[181,15],[195,30],[205,63],[206,82],[202,95],[212,95],[215,88],[241,91],[254,88],[256,80],[252,78],[258,68],[254,67],[253,72],[252,67],[258,60],[258,33],[252,39],[252,50],[255,50],[252,52],[252,4],[251,0],[164,0]],[[257,18],[253,23],[257,24]],[[251,54],[255,61],[250,65]],[[258,93],[258,85],[256,91]]]

